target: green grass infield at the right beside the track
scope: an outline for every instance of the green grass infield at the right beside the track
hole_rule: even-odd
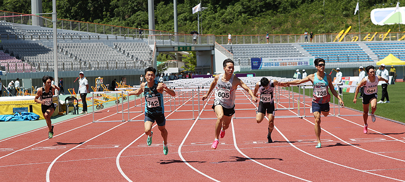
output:
[[[402,95],[404,94],[403,91],[405,90],[405,82],[397,82],[395,83],[395,85],[388,85],[387,90],[390,103],[377,104],[377,111],[375,115],[405,123],[405,97],[404,95]],[[293,91],[298,92],[298,88],[293,87]],[[377,101],[381,99],[382,95],[381,91],[382,91],[381,86],[378,86]],[[305,95],[312,97],[312,90],[311,92],[309,92],[308,89],[305,90]],[[357,95],[357,97],[358,96],[359,94]],[[358,111],[363,111],[361,99],[357,99],[357,103],[355,104],[353,103],[353,98],[354,93],[343,92],[343,102],[345,103],[345,107],[350,107]],[[331,102],[333,102],[333,98],[331,98]],[[335,103],[337,104],[338,102],[339,100],[335,99]]]

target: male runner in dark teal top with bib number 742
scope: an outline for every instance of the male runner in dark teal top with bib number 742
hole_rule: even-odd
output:
[[[145,134],[148,135],[146,142],[152,144],[152,125],[156,121],[157,128],[163,137],[163,154],[168,155],[168,131],[166,130],[165,107],[163,100],[163,91],[171,96],[175,96],[174,90],[168,88],[165,83],[155,80],[156,69],[148,67],[145,69],[146,82],[141,84],[141,88],[129,92],[130,95],[139,95],[143,92],[145,96]]]

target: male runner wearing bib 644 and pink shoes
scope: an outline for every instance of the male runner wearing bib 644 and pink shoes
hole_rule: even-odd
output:
[[[376,116],[374,112],[377,110],[377,86],[379,81],[385,81],[388,83],[387,80],[381,78],[380,76],[376,76],[376,71],[374,66],[370,65],[366,67],[367,74],[369,76],[363,78],[360,83],[356,87],[356,91],[354,92],[354,99],[353,102],[356,103],[357,101],[357,94],[360,90],[360,87],[364,86],[363,90],[363,120],[364,120],[364,129],[363,133],[367,133],[368,124],[367,118],[369,117],[369,105],[371,104],[371,121],[376,121]]]

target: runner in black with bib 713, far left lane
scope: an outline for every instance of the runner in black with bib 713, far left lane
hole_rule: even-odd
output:
[[[42,113],[44,114],[49,129],[48,138],[52,138],[54,135],[54,126],[52,126],[51,116],[54,114],[56,106],[52,102],[52,93],[55,92],[55,89],[60,89],[58,86],[51,84],[52,80],[53,78],[50,76],[44,76],[42,78],[42,82],[44,82],[45,86],[38,89],[34,99],[36,103],[42,104]]]

